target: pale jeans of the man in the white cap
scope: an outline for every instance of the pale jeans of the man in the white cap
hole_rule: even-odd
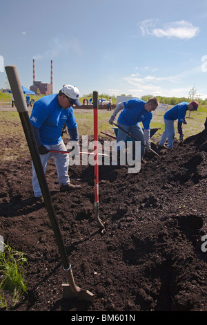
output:
[[[59,142],[57,145],[45,145],[45,147],[49,150],[66,151],[66,146],[64,145],[63,140]],[[46,174],[48,160],[51,157],[53,157],[53,160],[55,161],[55,167],[57,170],[57,178],[59,180],[59,184],[67,185],[70,183],[70,178],[68,176],[68,165],[69,165],[68,154],[58,154],[54,152],[48,152],[48,154],[39,155],[39,156],[41,158],[44,174]],[[39,180],[37,178],[37,174],[34,169],[33,163],[32,163],[32,186],[33,186],[34,196],[36,197],[42,196],[41,188],[39,186]]]

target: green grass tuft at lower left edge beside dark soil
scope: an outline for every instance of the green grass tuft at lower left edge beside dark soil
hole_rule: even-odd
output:
[[[23,266],[28,264],[25,254],[12,250],[5,245],[6,250],[0,252],[0,307],[8,306],[5,299],[5,292],[12,294],[13,304],[17,304],[20,297],[27,292],[27,285],[23,277]]]

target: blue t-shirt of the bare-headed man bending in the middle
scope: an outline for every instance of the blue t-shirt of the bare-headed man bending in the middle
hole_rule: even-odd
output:
[[[137,98],[124,102],[124,109],[119,115],[118,122],[128,126],[137,125],[139,122],[142,122],[144,129],[150,129],[152,112],[146,111],[144,104],[146,104],[144,100]]]

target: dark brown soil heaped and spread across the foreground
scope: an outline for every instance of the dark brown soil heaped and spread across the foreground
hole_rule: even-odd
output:
[[[17,140],[10,139],[10,147]],[[137,174],[128,166],[99,166],[103,234],[95,221],[94,167],[70,167],[71,183],[82,187],[61,193],[53,160],[48,163],[46,179],[75,284],[95,295],[93,304],[63,298],[67,280],[46,207],[32,198],[30,155],[1,164],[0,235],[29,263],[28,295],[10,310],[207,310],[207,252],[201,250],[207,130],[182,146],[175,142],[172,151],[156,150],[160,156],[148,154]]]

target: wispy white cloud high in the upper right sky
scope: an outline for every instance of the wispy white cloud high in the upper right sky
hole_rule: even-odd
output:
[[[157,19],[146,19],[141,21],[138,26],[141,35],[152,35],[155,37],[175,37],[179,39],[191,39],[198,35],[199,28],[193,26],[185,20],[173,21],[164,25],[163,28],[155,28]]]

